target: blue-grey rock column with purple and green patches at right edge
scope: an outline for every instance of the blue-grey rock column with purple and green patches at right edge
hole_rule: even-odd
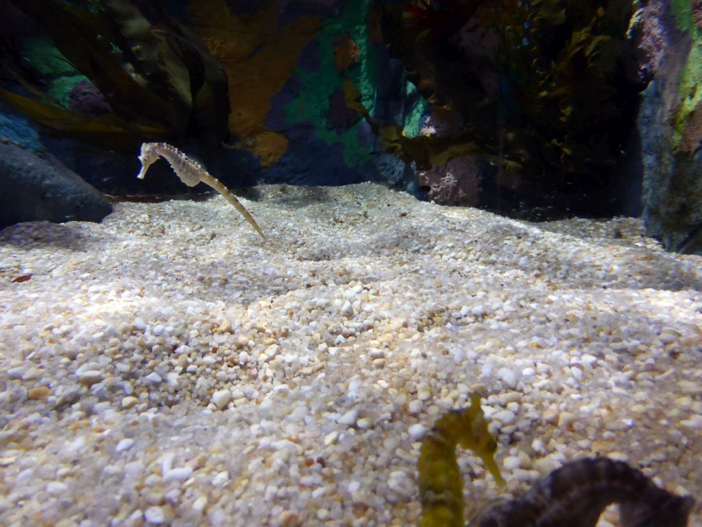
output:
[[[643,217],[649,236],[668,250],[702,254],[702,44],[699,2],[689,10],[651,1],[631,30],[651,77],[637,119],[643,164]],[[686,7],[687,7],[686,6]]]

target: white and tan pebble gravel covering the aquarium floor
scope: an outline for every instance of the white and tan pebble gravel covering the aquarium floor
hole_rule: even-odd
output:
[[[600,454],[702,523],[701,257],[638,219],[256,190],[266,241],[221,197],[0,233],[1,525],[415,525],[420,440],[472,391],[508,486],[459,451],[467,515]]]

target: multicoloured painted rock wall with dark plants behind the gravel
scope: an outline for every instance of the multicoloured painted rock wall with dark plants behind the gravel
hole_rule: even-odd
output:
[[[643,214],[701,250],[698,2],[0,8],[0,111],[103,193],[201,193],[161,165],[133,177],[140,144],[166,141],[232,188],[386,181],[536,221]]]

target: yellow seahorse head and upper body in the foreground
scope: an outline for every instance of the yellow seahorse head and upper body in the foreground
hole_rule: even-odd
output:
[[[480,396],[470,407],[440,417],[422,443],[419,454],[420,527],[464,527],[463,480],[456,460],[456,445],[470,448],[500,486],[505,480],[495,462],[497,441],[487,429]]]

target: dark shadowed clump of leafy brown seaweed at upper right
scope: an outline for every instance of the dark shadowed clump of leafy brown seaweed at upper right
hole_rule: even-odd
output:
[[[485,157],[545,190],[601,188],[621,162],[642,86],[630,0],[383,4],[388,51]],[[488,157],[489,156],[489,157]]]

